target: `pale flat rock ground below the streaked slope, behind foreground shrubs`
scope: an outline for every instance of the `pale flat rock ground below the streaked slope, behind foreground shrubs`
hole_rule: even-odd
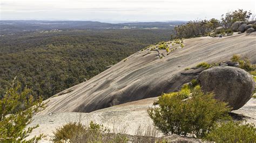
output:
[[[46,135],[43,142],[50,142],[53,135],[52,132],[55,131],[57,127],[60,127],[69,121],[78,121],[80,115],[82,116],[81,122],[84,125],[88,125],[90,121],[95,121],[97,124],[103,124],[105,127],[108,127],[111,131],[113,127],[115,127],[117,130],[125,127],[127,134],[134,135],[136,134],[139,125],[142,127],[152,125],[152,120],[150,119],[146,110],[147,108],[152,107],[153,102],[157,99],[158,98],[155,97],[132,101],[130,103],[104,108],[91,113],[65,112],[35,115],[35,117],[33,117],[34,120],[29,126],[39,124],[39,127],[33,130],[29,138],[43,133]],[[256,125],[256,99],[251,98],[239,110],[232,112],[245,115],[247,117],[245,119],[248,123],[252,122]],[[171,135],[166,138],[171,138],[171,141],[177,142],[180,140],[189,139],[180,137],[179,135]],[[189,139],[189,142],[196,142],[196,139]]]

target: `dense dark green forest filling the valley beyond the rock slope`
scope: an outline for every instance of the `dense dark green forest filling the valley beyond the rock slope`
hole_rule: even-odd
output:
[[[172,30],[69,30],[0,37],[0,95],[17,76],[44,99],[104,71]]]

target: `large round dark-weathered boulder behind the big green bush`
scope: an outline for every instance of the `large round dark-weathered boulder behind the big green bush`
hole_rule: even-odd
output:
[[[227,102],[233,110],[250,100],[255,86],[250,73],[231,66],[207,69],[199,74],[198,80],[204,92],[214,92],[216,99]]]

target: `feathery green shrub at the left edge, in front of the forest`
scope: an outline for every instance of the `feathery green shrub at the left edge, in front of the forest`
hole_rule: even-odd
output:
[[[26,87],[22,91],[21,84],[14,80],[0,100],[0,141],[24,141],[33,129],[38,127],[37,125],[26,128],[33,115],[45,108],[42,101],[42,98],[33,98],[31,90]],[[42,137],[43,134],[27,141],[37,141]]]

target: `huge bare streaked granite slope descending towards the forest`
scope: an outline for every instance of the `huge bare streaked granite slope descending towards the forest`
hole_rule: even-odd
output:
[[[92,79],[48,99],[48,107],[40,114],[92,112],[157,97],[163,92],[178,90],[197,76],[198,71],[185,71],[186,67],[201,62],[222,62],[234,54],[247,56],[256,63],[256,32],[220,39],[191,38],[185,39],[183,44],[183,48],[174,45],[173,49],[177,47],[177,50],[169,55],[165,50],[150,51],[153,46],[136,52]],[[165,57],[160,58],[159,53]]]

